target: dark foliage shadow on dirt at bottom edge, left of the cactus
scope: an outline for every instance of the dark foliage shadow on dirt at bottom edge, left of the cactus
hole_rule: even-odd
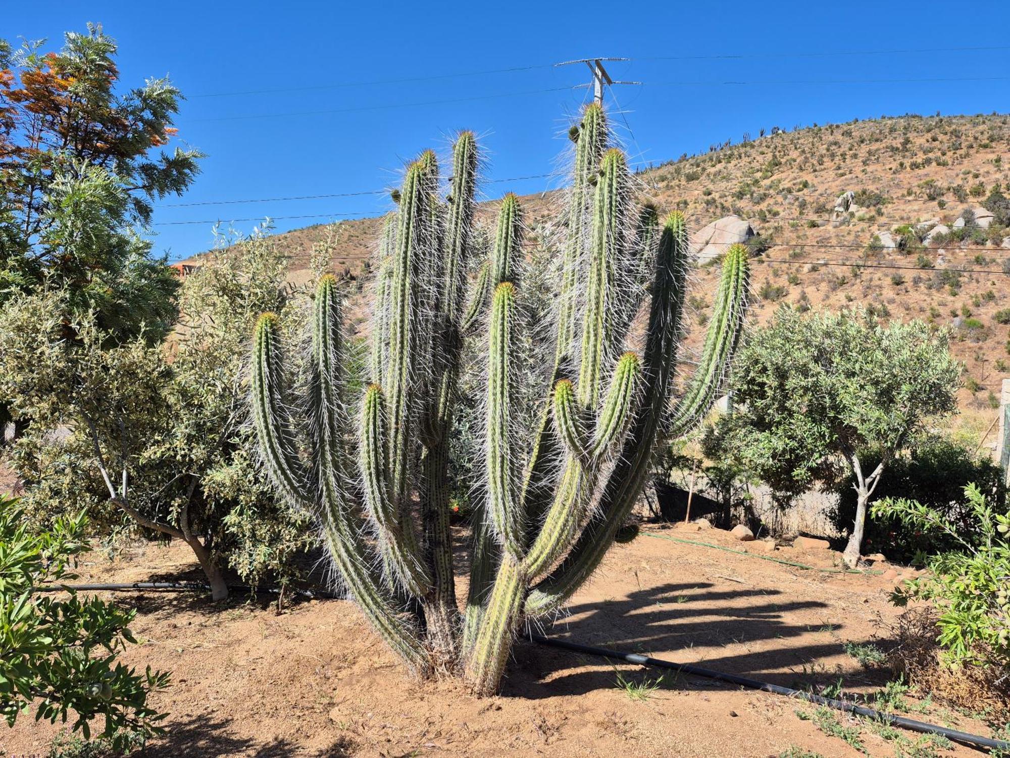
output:
[[[252,758],[344,758],[355,754],[357,746],[346,738],[336,739],[329,747],[309,752],[290,740],[274,737],[266,741],[239,737],[229,731],[231,719],[209,716],[173,721],[166,725],[168,734],[153,741],[143,751],[144,758],[179,758],[179,756],[243,755]]]

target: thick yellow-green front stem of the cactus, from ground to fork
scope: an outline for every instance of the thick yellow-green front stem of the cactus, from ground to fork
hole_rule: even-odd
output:
[[[467,679],[475,694],[490,695],[498,689],[519,624],[526,584],[521,564],[506,553],[467,658]]]

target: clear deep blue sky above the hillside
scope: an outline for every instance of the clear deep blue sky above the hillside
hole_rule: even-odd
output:
[[[285,230],[380,213],[390,202],[363,194],[168,203],[382,189],[396,182],[405,160],[427,147],[444,149],[461,127],[484,135],[488,179],[557,170],[569,116],[587,95],[571,87],[586,83],[589,71],[550,64],[574,58],[631,59],[609,69],[614,79],[643,83],[613,91],[626,111],[627,125],[616,119],[620,136],[636,162],[659,163],[773,125],[1010,110],[1010,81],[935,81],[1010,77],[1005,0],[973,3],[970,13],[929,0],[49,0],[10,4],[0,33],[47,37],[56,46],[65,30],[83,30],[88,21],[102,22],[119,41],[124,84],[168,74],[189,98],[179,136],[208,158],[191,190],[155,214],[156,249],[173,259],[210,247],[214,219],[270,215]],[[955,50],[965,48],[1002,49]],[[899,50],[911,52],[851,55]],[[522,70],[499,71],[509,68]],[[426,79],[389,81],[418,77]],[[846,83],[825,83],[839,80]],[[258,94],[217,96],[236,92]],[[495,197],[560,181],[484,189]],[[295,215],[313,217],[284,218]],[[171,223],[178,221],[206,222]],[[234,223],[243,231],[254,224]]]

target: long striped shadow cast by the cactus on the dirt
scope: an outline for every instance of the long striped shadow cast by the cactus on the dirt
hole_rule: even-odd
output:
[[[795,622],[797,611],[827,608],[827,603],[789,600],[782,597],[783,591],[779,589],[717,590],[713,586],[708,582],[663,584],[631,592],[621,599],[574,605],[570,608],[571,618],[534,631],[584,645],[675,662],[694,662],[696,658],[695,655],[678,657],[678,651],[733,646],[725,653],[713,651],[699,665],[783,686],[802,688],[833,673],[818,672],[812,662],[836,655],[841,650],[840,640],[795,644],[797,638],[821,631],[817,625]],[[830,629],[840,630],[842,625]],[[772,640],[783,642],[769,645]],[[502,692],[522,697],[584,694],[612,688],[614,665],[627,665],[547,648],[528,640],[517,641],[513,657],[522,665],[509,667]],[[593,668],[585,670],[586,666]],[[675,686],[725,686],[674,672],[670,672],[667,681],[675,678]]]

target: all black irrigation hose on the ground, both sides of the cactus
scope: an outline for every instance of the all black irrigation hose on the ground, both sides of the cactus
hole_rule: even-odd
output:
[[[149,590],[149,589],[161,589],[170,590],[175,592],[193,592],[193,591],[209,591],[210,585],[203,582],[132,582],[130,584],[48,584],[43,586],[38,586],[34,588],[36,592],[64,592],[67,590],[79,590],[79,591],[136,591],[136,590]],[[229,584],[228,589],[258,592],[263,594],[280,594],[281,589],[279,587],[250,587],[247,584]],[[302,597],[314,597],[314,598],[326,598],[326,599],[340,599],[341,595],[335,592],[327,592],[325,590],[315,590],[315,589],[288,589],[287,591],[292,594],[296,594]],[[844,700],[836,700],[833,697],[824,697],[822,695],[812,694],[810,692],[804,692],[800,689],[793,689],[792,687],[783,687],[779,684],[772,684],[771,682],[761,681],[759,679],[750,679],[746,676],[738,676],[737,674],[726,674],[722,671],[713,671],[712,669],[702,668],[701,666],[694,666],[689,663],[674,663],[673,661],[664,661],[659,658],[650,658],[647,655],[638,655],[637,653],[622,653],[619,650],[608,650],[606,648],[594,648],[590,645],[581,645],[577,642],[569,642],[567,640],[558,640],[556,638],[543,637],[541,635],[529,636],[531,642],[535,642],[538,645],[545,645],[551,648],[560,648],[561,650],[568,650],[575,653],[585,653],[587,655],[597,655],[602,658],[612,658],[618,661],[626,661],[627,663],[635,663],[640,666],[652,666],[653,668],[666,668],[673,671],[680,671],[685,674],[691,674],[692,676],[704,676],[708,679],[716,679],[718,681],[724,681],[729,684],[736,684],[741,687],[748,687],[750,689],[761,689],[765,692],[774,692],[775,694],[782,694],[788,697],[799,697],[800,699],[807,700],[808,702],[813,702],[818,705],[827,705],[828,707],[835,708],[836,710],[846,710],[850,714],[856,714],[857,716],[864,716],[869,719],[875,719],[877,721],[882,721],[886,724],[890,724],[895,727],[904,727],[905,729],[910,729],[913,732],[922,732],[925,734],[937,734],[942,735],[950,740],[955,740],[961,743],[968,743],[970,745],[979,745],[985,748],[993,748],[999,750],[1010,750],[1010,742],[1005,740],[994,740],[989,737],[982,737],[980,735],[972,735],[968,732],[958,732],[955,729],[947,729],[946,727],[939,727],[935,724],[926,724],[925,722],[917,722],[914,719],[906,719],[903,716],[894,716],[893,714],[885,714],[880,710],[875,710],[874,708],[864,707],[863,705],[856,705],[851,702],[845,702]]]

